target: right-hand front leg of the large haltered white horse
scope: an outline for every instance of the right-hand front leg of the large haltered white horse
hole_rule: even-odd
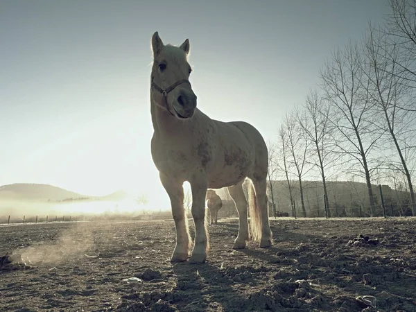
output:
[[[195,243],[189,262],[204,263],[207,259],[209,248],[208,234],[205,227],[205,194],[207,193],[207,181],[190,181],[192,191],[192,218],[195,223]]]

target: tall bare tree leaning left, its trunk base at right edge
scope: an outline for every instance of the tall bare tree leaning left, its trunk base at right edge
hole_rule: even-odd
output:
[[[404,140],[410,133],[412,133],[410,135],[412,138],[416,134],[416,114],[400,110],[397,107],[410,92],[406,84],[401,83],[404,78],[400,75],[402,69],[397,65],[399,64],[399,49],[396,45],[388,42],[385,33],[376,31],[371,25],[363,46],[365,62],[369,65],[363,68],[363,73],[369,81],[370,101],[374,103],[374,115],[380,117],[375,119],[374,124],[380,132],[387,130],[388,139],[392,140],[395,150],[397,150],[398,163],[401,166],[401,171],[406,175],[410,191],[412,213],[413,216],[416,216],[415,192],[405,159],[406,150],[412,146],[408,146],[408,142],[405,144],[406,140]],[[395,166],[395,164],[390,162],[390,166]]]

